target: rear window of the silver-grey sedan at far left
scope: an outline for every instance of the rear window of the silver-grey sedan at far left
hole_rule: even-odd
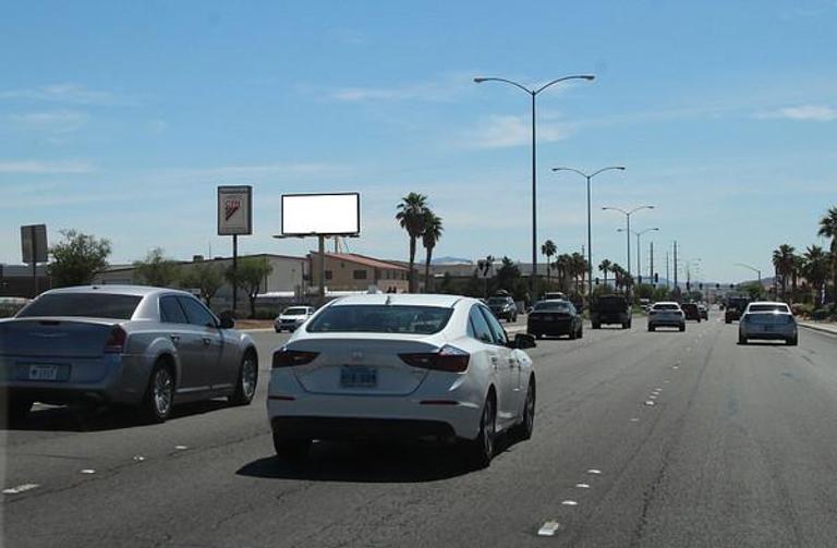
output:
[[[41,295],[21,312],[19,318],[76,316],[88,318],[131,319],[141,296],[108,293],[51,293]]]

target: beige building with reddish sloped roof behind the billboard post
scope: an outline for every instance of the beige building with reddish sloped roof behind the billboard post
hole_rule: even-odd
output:
[[[319,285],[319,253],[308,254],[311,288]],[[374,285],[383,292],[404,293],[409,289],[409,268],[356,253],[325,254],[327,291],[366,291]]]

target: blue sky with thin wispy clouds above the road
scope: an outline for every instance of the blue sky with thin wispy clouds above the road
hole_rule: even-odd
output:
[[[529,98],[536,85],[538,241],[624,264],[623,218],[677,240],[707,280],[769,270],[837,205],[837,2],[13,2],[0,19],[0,261],[19,227],[111,240],[112,263],[161,246],[229,254],[220,184],[252,184],[241,253],[277,241],[282,193],[360,191],[353,252],[407,258],[411,191],[445,221],[435,254],[529,260]],[[651,235],[643,239],[646,244]],[[635,254],[635,249],[632,249]],[[647,255],[647,248],[643,251]],[[635,260],[635,255],[633,255]],[[646,267],[644,267],[646,268]]]

